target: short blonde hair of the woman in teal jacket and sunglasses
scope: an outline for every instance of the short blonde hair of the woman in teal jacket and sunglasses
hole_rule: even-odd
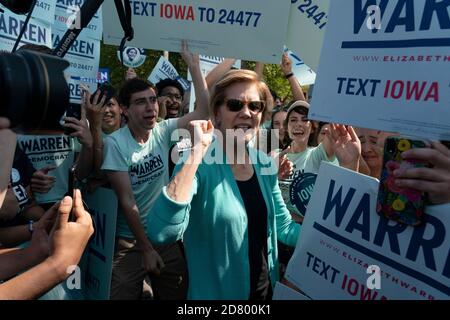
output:
[[[230,70],[214,85],[209,103],[209,114],[212,119],[215,120],[217,109],[225,102],[227,89],[236,83],[256,85],[259,98],[265,104],[261,117],[261,121],[264,121],[267,114],[272,112],[273,98],[267,85],[260,81],[258,75],[251,70]]]

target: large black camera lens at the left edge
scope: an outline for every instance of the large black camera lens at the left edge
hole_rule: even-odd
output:
[[[0,116],[11,127],[60,129],[59,120],[69,104],[69,88],[60,58],[31,52],[0,53]]]

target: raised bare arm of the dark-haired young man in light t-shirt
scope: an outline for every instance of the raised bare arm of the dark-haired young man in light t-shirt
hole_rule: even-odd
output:
[[[204,120],[209,117],[209,91],[206,85],[205,78],[200,70],[200,59],[198,54],[192,54],[188,51],[187,42],[182,41],[181,56],[187,63],[189,71],[192,75],[192,82],[194,83],[195,99],[197,108],[187,115],[178,119],[177,127],[186,128],[188,123],[193,120]]]

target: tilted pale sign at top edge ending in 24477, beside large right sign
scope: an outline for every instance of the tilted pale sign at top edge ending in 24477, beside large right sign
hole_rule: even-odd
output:
[[[319,66],[329,5],[330,0],[291,0],[286,45],[314,71]]]

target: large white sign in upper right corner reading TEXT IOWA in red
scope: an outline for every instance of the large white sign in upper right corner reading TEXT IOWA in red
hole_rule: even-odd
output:
[[[449,48],[449,1],[332,1],[310,118],[450,140]]]

